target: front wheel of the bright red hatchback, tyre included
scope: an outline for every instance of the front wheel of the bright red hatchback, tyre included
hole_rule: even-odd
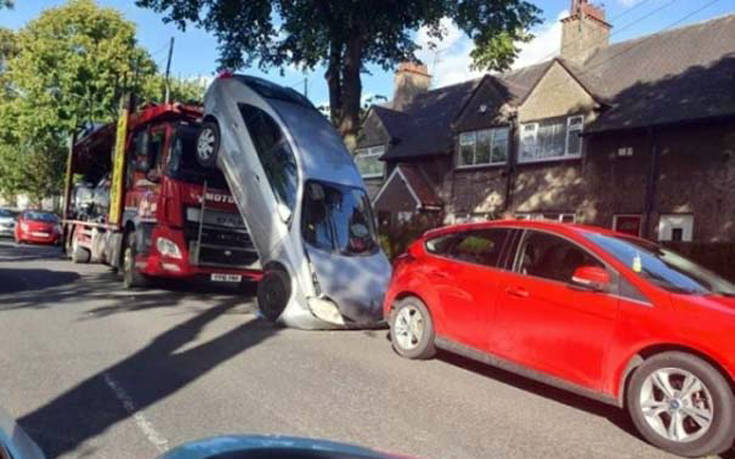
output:
[[[630,381],[627,406],[650,443],[680,456],[719,454],[735,438],[735,397],[722,374],[684,352],[646,360]]]

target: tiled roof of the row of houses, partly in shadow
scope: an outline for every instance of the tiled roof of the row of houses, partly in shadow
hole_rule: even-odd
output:
[[[557,58],[490,78],[518,105],[555,60],[605,105],[588,133],[735,115],[735,15],[602,47],[583,63]],[[480,81],[419,94],[401,111],[376,106],[392,138],[384,159],[451,152],[451,123]]]

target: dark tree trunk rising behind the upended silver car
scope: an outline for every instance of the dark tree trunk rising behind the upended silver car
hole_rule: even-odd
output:
[[[355,33],[346,43],[342,65],[341,106],[337,117],[337,130],[350,151],[357,145],[357,133],[360,130],[362,49],[362,37],[359,33]]]

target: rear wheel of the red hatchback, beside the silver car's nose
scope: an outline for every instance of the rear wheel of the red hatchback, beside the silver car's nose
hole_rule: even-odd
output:
[[[390,317],[393,349],[409,359],[429,359],[436,354],[434,322],[426,305],[416,297],[400,300]]]

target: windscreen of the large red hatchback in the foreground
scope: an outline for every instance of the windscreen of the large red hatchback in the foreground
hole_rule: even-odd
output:
[[[731,282],[666,247],[624,236],[585,236],[639,276],[670,292],[735,295]]]

